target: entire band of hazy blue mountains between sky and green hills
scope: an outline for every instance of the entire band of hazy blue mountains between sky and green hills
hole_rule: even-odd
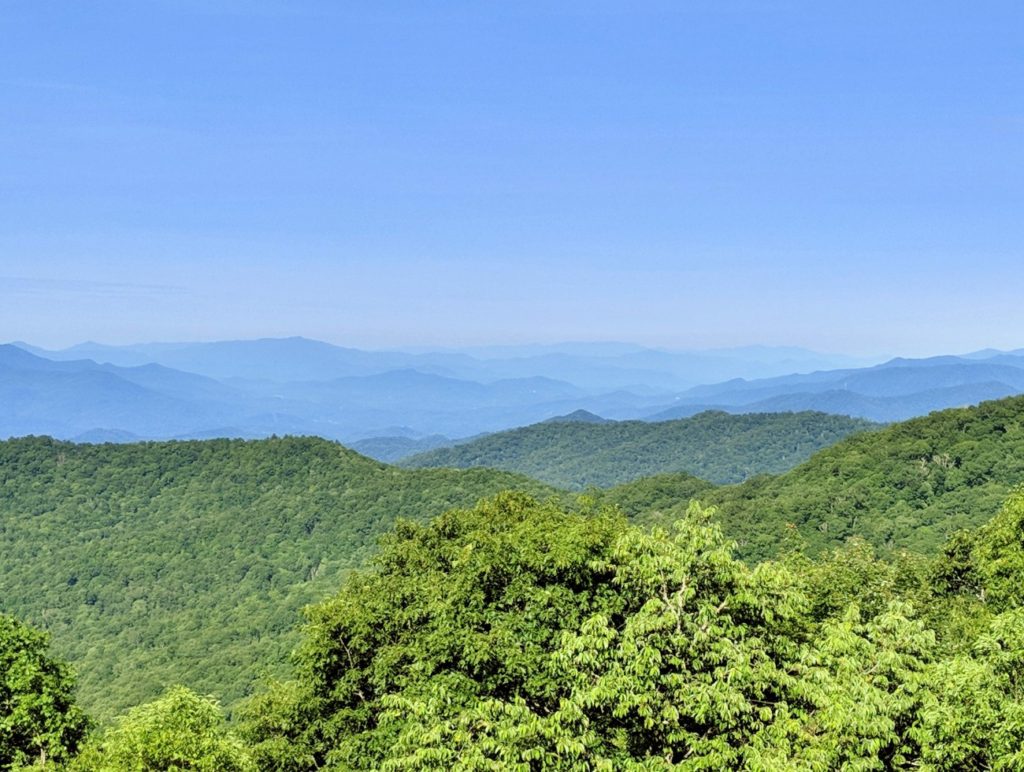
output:
[[[304,338],[59,351],[16,343],[0,346],[0,437],[308,434],[393,461],[580,411],[646,421],[817,411],[889,422],[1024,392],[1021,350],[861,364],[794,348],[625,343],[427,352]]]

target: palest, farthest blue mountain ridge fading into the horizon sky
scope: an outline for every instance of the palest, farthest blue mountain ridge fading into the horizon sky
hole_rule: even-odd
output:
[[[27,344],[18,344],[28,347]],[[147,362],[217,379],[325,381],[416,370],[482,383],[544,377],[594,392],[674,392],[729,378],[764,378],[866,363],[792,347],[748,346],[669,351],[629,343],[490,346],[450,351],[364,351],[306,338],[108,346],[83,343],[59,351],[29,350],[49,359],[89,358],[121,367]]]

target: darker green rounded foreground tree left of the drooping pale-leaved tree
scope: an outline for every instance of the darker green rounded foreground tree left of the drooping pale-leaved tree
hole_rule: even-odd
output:
[[[310,610],[302,688],[283,718],[262,720],[264,732],[291,731],[259,737],[257,754],[291,746],[319,765],[376,768],[401,738],[402,723],[387,718],[403,712],[401,699],[437,689],[454,705],[557,699],[550,654],[563,630],[615,610],[601,559],[625,527],[609,511],[513,494],[428,526],[400,523],[375,571]]]

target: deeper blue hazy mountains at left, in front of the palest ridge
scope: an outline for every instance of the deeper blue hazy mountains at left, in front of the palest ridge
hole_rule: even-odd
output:
[[[295,355],[292,344],[285,348]],[[91,345],[74,351],[103,353]],[[467,437],[561,415],[581,402],[634,412],[652,403],[628,392],[594,395],[545,377],[480,383],[410,369],[321,381],[220,381],[155,363],[54,361],[13,345],[0,346],[0,436],[83,441],[316,434],[353,442],[392,436],[395,427],[414,437]]]

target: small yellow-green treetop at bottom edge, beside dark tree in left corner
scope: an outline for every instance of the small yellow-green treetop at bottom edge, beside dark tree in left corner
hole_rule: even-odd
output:
[[[85,749],[73,768],[83,772],[256,770],[248,749],[226,729],[217,701],[181,686],[131,709]]]

